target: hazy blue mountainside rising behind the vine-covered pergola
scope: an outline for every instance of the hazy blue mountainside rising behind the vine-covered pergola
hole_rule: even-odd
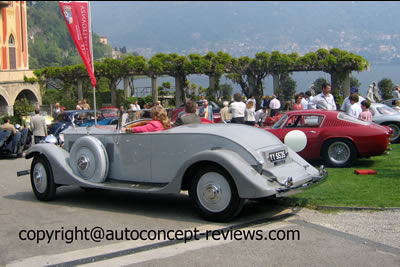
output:
[[[96,33],[146,57],[219,50],[302,55],[338,47],[371,62],[400,59],[399,2],[91,3]]]

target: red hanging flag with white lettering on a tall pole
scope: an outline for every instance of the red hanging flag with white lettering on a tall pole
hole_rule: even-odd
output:
[[[71,33],[72,40],[81,55],[86,70],[88,71],[90,81],[93,87],[96,86],[96,77],[94,76],[93,57],[92,57],[92,31],[89,18],[88,1],[59,1],[61,12],[65,23]]]

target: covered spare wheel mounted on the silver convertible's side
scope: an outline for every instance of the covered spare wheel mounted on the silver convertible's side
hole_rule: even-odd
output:
[[[104,145],[93,136],[80,137],[70,152],[70,165],[79,177],[102,183],[108,174],[108,155]]]

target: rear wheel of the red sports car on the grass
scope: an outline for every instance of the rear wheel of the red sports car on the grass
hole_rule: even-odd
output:
[[[331,139],[322,148],[322,159],[330,167],[349,167],[357,158],[354,144],[347,139]]]

